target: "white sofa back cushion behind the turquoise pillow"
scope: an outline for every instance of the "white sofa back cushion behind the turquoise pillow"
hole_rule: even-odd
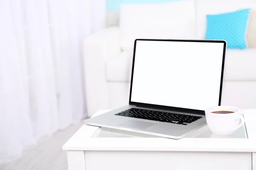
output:
[[[204,40],[208,14],[221,14],[256,7],[256,0],[196,0],[197,39]]]

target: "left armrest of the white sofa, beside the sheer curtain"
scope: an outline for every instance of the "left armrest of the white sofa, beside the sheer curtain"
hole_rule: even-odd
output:
[[[106,61],[119,54],[119,27],[113,26],[86,37],[83,45],[84,85],[87,115],[99,109],[108,109]]]

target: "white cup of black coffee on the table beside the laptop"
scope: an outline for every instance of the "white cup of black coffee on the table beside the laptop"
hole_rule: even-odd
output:
[[[212,113],[215,111],[232,111],[233,113]],[[205,110],[206,121],[209,129],[216,135],[231,135],[244,125],[244,117],[240,109],[232,106],[214,106]],[[241,123],[239,124],[239,119]]]

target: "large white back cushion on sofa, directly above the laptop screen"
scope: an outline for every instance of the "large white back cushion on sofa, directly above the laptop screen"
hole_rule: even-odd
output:
[[[195,39],[195,3],[122,4],[119,26],[123,50],[133,48],[138,38]]]

